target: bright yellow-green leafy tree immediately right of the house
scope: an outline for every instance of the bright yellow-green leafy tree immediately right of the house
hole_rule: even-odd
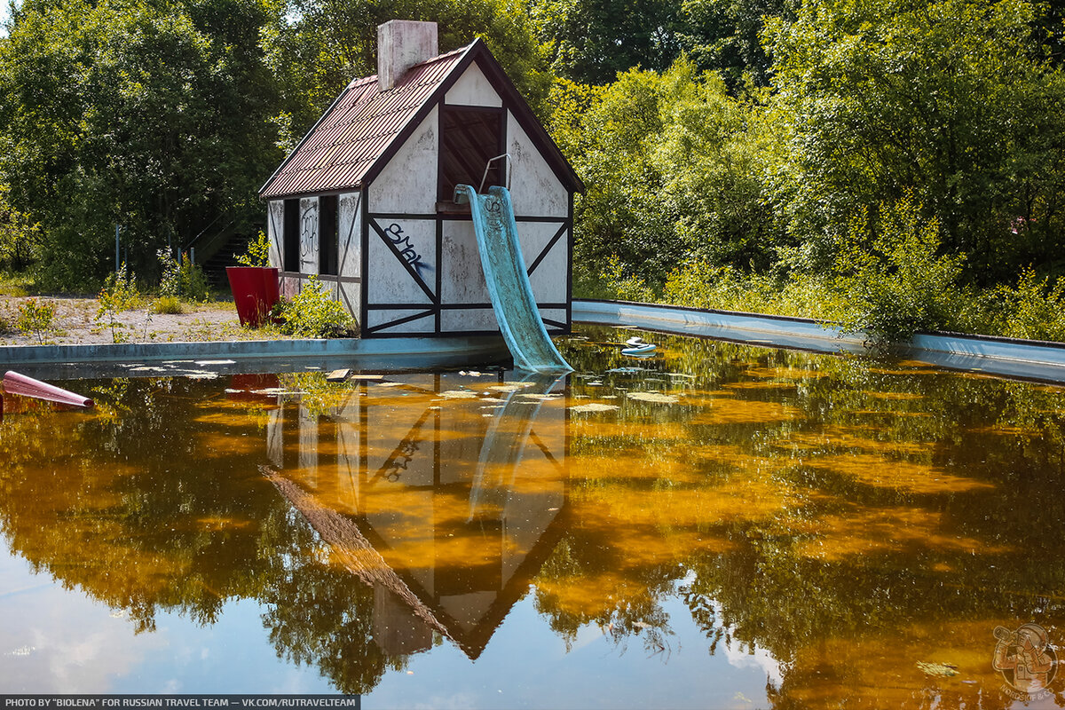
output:
[[[556,85],[554,135],[584,178],[575,262],[617,255],[653,287],[686,260],[767,267],[785,244],[759,175],[771,130],[715,75],[678,60],[603,89]]]

